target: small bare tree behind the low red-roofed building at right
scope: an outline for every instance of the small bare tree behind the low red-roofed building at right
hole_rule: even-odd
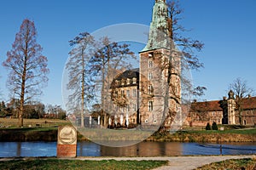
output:
[[[253,88],[249,88],[247,81],[238,77],[234,82],[230,83],[230,90],[232,90],[236,96],[239,124],[242,125],[241,112],[243,111],[243,102],[244,99],[253,94]]]

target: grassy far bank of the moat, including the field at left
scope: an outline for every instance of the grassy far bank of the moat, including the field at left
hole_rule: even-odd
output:
[[[71,124],[68,121],[51,120],[51,119],[25,119],[25,127],[17,128],[17,119],[0,118],[0,123],[4,127],[0,128],[0,141],[56,141],[57,140],[57,127],[60,125]],[[256,128],[240,128],[225,127],[224,131],[206,131],[202,129],[186,128],[183,131],[176,133],[154,133],[147,141],[170,141],[170,142],[202,142],[202,143],[229,143],[229,142],[256,142]],[[95,132],[94,132],[95,131]],[[97,133],[98,129],[90,131],[90,135]],[[102,132],[102,130],[101,130]],[[115,140],[122,138],[122,131],[111,131],[117,133],[113,135]],[[141,134],[143,131],[129,131],[134,136]],[[108,133],[108,129],[106,130]],[[135,135],[135,136],[137,136]],[[88,136],[87,136],[88,137]],[[104,137],[102,135],[102,137]],[[94,138],[95,139],[95,138]],[[87,140],[83,135],[78,133],[78,140]]]

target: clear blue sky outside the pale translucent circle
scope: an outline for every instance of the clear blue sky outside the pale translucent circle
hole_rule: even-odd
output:
[[[203,99],[222,99],[236,77],[256,89],[256,1],[181,0],[183,26],[189,37],[201,40],[205,68],[192,71],[195,85],[207,87]],[[68,41],[80,32],[104,26],[137,23],[149,26],[154,0],[5,0],[0,2],[0,62],[15,41],[22,20],[35,21],[38,43],[49,59],[49,83],[40,98],[44,104],[63,105],[61,79],[70,47]],[[135,51],[136,52],[136,51]],[[7,71],[0,65],[0,89],[9,99]]]

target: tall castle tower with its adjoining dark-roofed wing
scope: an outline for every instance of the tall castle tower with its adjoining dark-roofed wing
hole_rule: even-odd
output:
[[[166,1],[157,0],[148,43],[139,53],[140,68],[119,74],[111,84],[116,114],[109,125],[171,127],[170,114],[181,110],[181,65],[169,35]]]

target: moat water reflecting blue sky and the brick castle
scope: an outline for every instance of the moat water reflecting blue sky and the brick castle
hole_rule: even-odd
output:
[[[187,156],[256,154],[256,144],[197,144],[142,142],[112,148],[90,142],[78,143],[78,156]],[[0,157],[56,156],[55,142],[0,142]]]

